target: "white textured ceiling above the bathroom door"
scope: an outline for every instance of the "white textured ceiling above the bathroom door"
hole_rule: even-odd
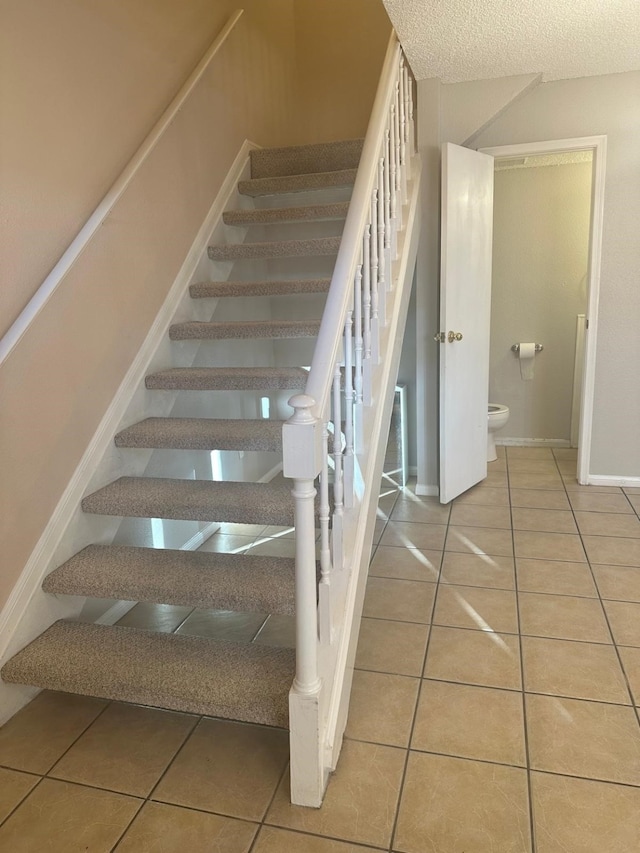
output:
[[[640,70],[640,0],[383,0],[419,80]]]

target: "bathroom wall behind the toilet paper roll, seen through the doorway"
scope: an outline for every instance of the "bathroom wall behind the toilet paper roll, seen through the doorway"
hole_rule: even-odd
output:
[[[545,159],[545,162],[548,158]],[[529,165],[532,162],[534,165]],[[586,309],[591,162],[497,169],[489,399],[510,409],[505,439],[571,436],[576,315]],[[511,346],[544,346],[532,380]]]

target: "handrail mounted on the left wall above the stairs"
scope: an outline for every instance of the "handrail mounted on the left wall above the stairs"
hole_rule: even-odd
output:
[[[44,279],[33,296],[29,299],[20,314],[3,335],[2,339],[0,339],[0,365],[8,358],[20,342],[31,323],[33,323],[38,314],[58,289],[67,273],[82,255],[93,235],[103,224],[107,216],[109,216],[119,198],[125,192],[147,157],[163,137],[178,112],[182,109],[193,89],[200,82],[200,79],[207,71],[211,61],[229,37],[243,13],[244,9],[236,9],[236,11],[231,14],[227,23],[207,48],[196,67],[180,87],[179,91],[171,100],[169,106],[162,113],[158,121],[151,128],[144,141],[138,147],[135,154],[129,160],[120,175],[116,178],[111,188],[107,191],[106,195],[100,201],[80,231],[78,231],[56,265]]]

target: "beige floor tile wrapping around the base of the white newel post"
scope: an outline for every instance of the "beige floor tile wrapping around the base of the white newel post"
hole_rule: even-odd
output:
[[[403,749],[345,741],[322,808],[291,805],[287,773],[265,823],[386,847],[391,838],[404,759]]]

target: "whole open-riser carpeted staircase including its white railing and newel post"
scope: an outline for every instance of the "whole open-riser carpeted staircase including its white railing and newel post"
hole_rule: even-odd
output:
[[[225,239],[200,264],[215,274],[190,285],[190,309],[146,376],[147,403],[167,402],[115,435],[127,476],[108,482],[100,469],[79,513],[102,519],[101,532],[42,585],[42,598],[295,616],[295,650],[62,619],[1,671],[13,684],[288,727],[292,801],[307,806],[322,803],[346,725],[416,259],[413,89],[392,36],[364,141],[251,152]],[[118,461],[127,454],[142,462]],[[176,462],[194,454],[208,472]],[[227,471],[214,470],[219,455]],[[267,475],[252,459],[278,465]],[[294,527],[295,559],[165,548],[151,541],[158,520]],[[145,523],[152,536],[136,538]]]

